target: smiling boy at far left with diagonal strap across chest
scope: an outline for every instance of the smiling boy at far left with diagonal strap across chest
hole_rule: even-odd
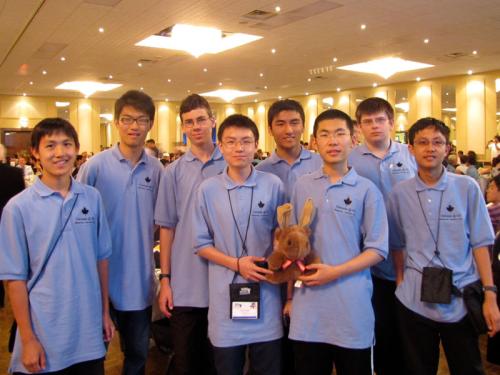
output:
[[[97,190],[71,178],[79,142],[66,120],[40,121],[31,151],[43,175],[5,206],[0,279],[17,335],[14,374],[104,374],[111,238]]]

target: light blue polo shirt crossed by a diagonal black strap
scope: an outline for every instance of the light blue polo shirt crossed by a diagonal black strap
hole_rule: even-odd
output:
[[[72,180],[63,198],[39,179],[5,206],[0,223],[0,280],[31,282],[71,212],[43,274],[29,295],[33,331],[47,358],[45,372],[105,355],[97,262],[111,255],[99,192]],[[22,365],[19,331],[11,372]]]

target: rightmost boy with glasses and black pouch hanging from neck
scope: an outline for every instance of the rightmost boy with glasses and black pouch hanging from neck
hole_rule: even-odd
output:
[[[457,289],[480,279],[488,334],[500,330],[488,251],[495,237],[475,181],[448,173],[442,165],[449,136],[449,128],[430,117],[410,128],[409,149],[418,174],[398,184],[389,198],[391,249],[405,252],[404,264],[397,263],[396,297],[410,375],[436,374],[440,342],[452,374],[484,374],[478,335]],[[442,290],[444,295],[429,296],[427,285],[435,291],[446,284],[427,284],[436,270],[437,275],[451,272],[452,286]]]

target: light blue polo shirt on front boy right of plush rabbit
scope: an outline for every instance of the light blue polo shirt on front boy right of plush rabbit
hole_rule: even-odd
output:
[[[308,198],[316,208],[310,226],[311,247],[323,264],[345,263],[367,248],[387,257],[384,199],[376,186],[354,168],[335,184],[322,169],[302,176],[292,194],[296,219]],[[372,346],[372,289],[369,269],[325,285],[295,288],[289,337],[350,349]]]

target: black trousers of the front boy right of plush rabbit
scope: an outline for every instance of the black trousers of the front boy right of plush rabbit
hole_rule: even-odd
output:
[[[294,341],[298,375],[372,375],[371,348],[348,349],[337,345]]]

